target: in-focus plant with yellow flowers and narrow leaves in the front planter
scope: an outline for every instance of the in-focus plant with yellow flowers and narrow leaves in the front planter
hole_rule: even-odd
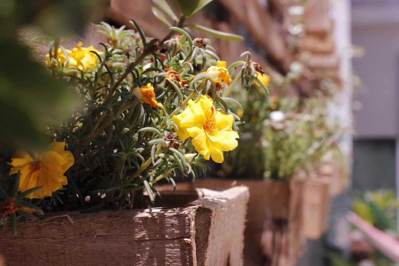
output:
[[[46,126],[42,150],[1,143],[0,224],[10,220],[14,234],[16,218],[37,221],[43,210],[135,208],[144,190],[154,202],[157,183],[176,189],[177,173],[194,181],[205,160],[221,163],[237,147],[232,107],[242,107],[227,96],[240,79],[258,80],[250,54],[227,66],[208,39],[171,27],[179,35],[162,43],[131,24],[97,25],[109,39],[101,50],[41,38],[43,61],[77,103]]]

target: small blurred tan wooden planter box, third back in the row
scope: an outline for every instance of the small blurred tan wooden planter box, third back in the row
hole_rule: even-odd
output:
[[[318,239],[330,222],[330,180],[308,178],[304,181],[303,226],[306,238]]]

